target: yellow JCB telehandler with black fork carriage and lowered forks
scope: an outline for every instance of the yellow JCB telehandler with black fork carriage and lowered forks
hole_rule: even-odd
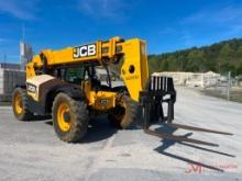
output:
[[[107,83],[98,78],[97,67],[107,70]],[[110,72],[124,86],[113,87]],[[145,42],[112,37],[35,55],[26,65],[26,83],[13,91],[12,108],[20,121],[52,115],[57,136],[68,143],[85,136],[90,116],[106,113],[119,128],[138,123],[163,138],[212,145],[148,129],[155,123],[180,126],[172,124],[175,101],[172,78],[148,76]]]

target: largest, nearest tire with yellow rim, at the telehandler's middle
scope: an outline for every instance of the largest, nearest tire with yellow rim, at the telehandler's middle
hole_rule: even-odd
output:
[[[53,125],[59,139],[67,143],[80,140],[88,128],[88,110],[82,101],[58,93],[52,108]]]

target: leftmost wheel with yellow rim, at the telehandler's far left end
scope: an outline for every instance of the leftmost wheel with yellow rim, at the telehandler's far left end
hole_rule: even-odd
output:
[[[19,121],[31,121],[34,118],[33,113],[28,110],[28,95],[25,89],[14,89],[12,93],[12,110]]]

